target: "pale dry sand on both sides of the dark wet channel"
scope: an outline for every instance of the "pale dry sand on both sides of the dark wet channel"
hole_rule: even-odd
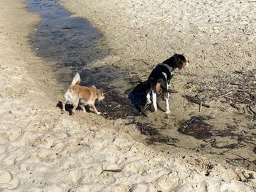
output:
[[[214,74],[233,77],[234,70],[255,69],[253,2],[72,0],[63,5],[104,35],[111,52],[94,66],[115,64],[143,76],[171,54],[184,53],[192,65],[177,72],[179,93],[172,99],[184,102],[179,106],[187,104],[180,94],[214,82],[209,78]],[[146,136],[126,119],[62,114],[56,104],[72,77],[59,83],[56,63],[39,58],[31,46],[39,15],[28,12],[26,1],[4,0],[0,7],[0,191],[255,191],[256,172],[225,158],[147,145]],[[186,89],[189,80],[194,87]],[[176,118],[187,118],[192,109],[178,110]],[[243,122],[255,126],[251,119]]]

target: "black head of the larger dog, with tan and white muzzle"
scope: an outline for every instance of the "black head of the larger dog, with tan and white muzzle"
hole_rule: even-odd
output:
[[[184,55],[177,53],[165,60],[163,63],[178,69],[185,68],[189,65],[189,61],[184,57]]]

